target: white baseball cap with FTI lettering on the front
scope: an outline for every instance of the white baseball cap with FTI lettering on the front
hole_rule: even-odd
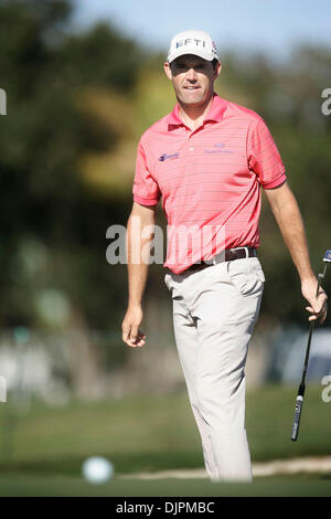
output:
[[[195,31],[194,29],[180,32],[173,36],[167,61],[171,63],[183,54],[195,54],[206,61],[213,61],[214,59],[220,61],[216,45],[211,36],[206,32]]]

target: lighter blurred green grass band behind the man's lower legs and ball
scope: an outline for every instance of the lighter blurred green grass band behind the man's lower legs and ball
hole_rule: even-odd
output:
[[[253,462],[331,453],[331,404],[322,402],[321,391],[322,386],[307,388],[297,443],[290,441],[296,388],[270,385],[247,392]],[[21,416],[0,404],[0,473],[78,477],[83,459],[95,454],[108,457],[116,474],[202,467],[186,394],[73,402],[64,407],[34,402]]]

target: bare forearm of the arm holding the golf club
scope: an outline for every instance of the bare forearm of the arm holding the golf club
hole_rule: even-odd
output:
[[[297,267],[301,282],[314,277],[311,268],[303,220],[292,195],[281,206],[273,209],[282,239]]]

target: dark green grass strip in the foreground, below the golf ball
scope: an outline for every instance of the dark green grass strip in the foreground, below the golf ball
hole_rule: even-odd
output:
[[[0,497],[330,497],[331,476],[267,477],[250,484],[202,479],[120,479],[89,485],[82,478],[14,475],[0,477]],[[119,504],[124,499],[118,499]]]

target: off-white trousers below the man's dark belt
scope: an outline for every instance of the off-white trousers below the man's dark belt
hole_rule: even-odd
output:
[[[252,480],[245,363],[265,276],[257,257],[168,272],[173,328],[211,480]]]

